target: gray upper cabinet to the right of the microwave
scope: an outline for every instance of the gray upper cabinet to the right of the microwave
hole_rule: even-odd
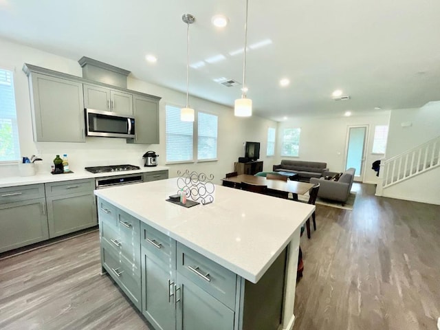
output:
[[[159,100],[133,95],[135,115],[134,139],[128,143],[159,144]]]

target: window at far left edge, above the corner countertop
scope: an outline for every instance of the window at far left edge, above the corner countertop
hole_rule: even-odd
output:
[[[0,162],[20,159],[12,72],[0,69]]]

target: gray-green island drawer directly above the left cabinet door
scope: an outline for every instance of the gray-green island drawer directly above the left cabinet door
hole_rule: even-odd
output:
[[[141,244],[173,270],[176,269],[176,241],[146,223],[141,223]]]

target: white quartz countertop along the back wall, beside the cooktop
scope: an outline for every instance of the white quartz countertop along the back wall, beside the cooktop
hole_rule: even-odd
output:
[[[119,172],[90,173],[85,169],[75,170],[74,173],[51,174],[37,173],[30,177],[0,177],[0,188],[12,186],[24,186],[25,184],[45,184],[46,182],[68,181],[76,179],[93,179],[95,177],[111,177],[113,175],[126,175],[144,172],[155,172],[157,170],[168,170],[166,166],[141,167],[139,170],[121,170]]]

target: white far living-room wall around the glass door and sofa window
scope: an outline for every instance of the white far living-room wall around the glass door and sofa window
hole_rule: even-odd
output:
[[[277,157],[276,164],[281,159],[298,159],[312,162],[326,162],[333,172],[343,172],[345,167],[345,148],[347,142],[347,128],[349,125],[369,125],[366,144],[366,160],[364,162],[364,182],[375,184],[376,173],[371,164],[384,155],[374,155],[374,129],[376,125],[387,125],[389,111],[380,111],[371,115],[353,115],[351,117],[298,117],[278,123]],[[281,142],[283,129],[300,127],[299,157],[281,157]]]

